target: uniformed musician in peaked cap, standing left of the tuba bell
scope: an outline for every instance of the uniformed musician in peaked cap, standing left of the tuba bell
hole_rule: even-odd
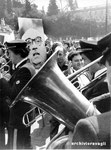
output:
[[[15,71],[9,81],[0,79],[0,100],[11,106],[14,99],[35,74],[34,67],[29,63],[27,43],[17,39],[5,43],[9,58],[15,65]],[[23,115],[30,110],[30,105],[18,101],[10,107],[8,122],[8,149],[31,149],[30,127],[22,122]],[[3,117],[3,116],[2,116]]]

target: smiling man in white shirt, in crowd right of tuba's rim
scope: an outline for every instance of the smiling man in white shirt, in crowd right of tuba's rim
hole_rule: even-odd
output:
[[[82,58],[82,50],[71,51],[68,55],[69,67],[68,73],[72,74],[77,70],[84,67],[84,59]],[[74,85],[77,88],[83,88],[87,84],[90,83],[89,73],[83,72],[81,73],[75,80]]]

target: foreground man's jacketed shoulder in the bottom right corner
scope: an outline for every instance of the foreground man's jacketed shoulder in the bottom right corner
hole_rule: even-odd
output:
[[[78,121],[72,149],[110,149],[111,111]]]

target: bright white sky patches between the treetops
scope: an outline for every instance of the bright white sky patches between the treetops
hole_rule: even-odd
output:
[[[58,6],[60,6],[60,0],[56,0],[58,3]],[[65,0],[62,1],[62,7],[65,7]],[[108,0],[108,3],[111,3],[111,0]],[[38,9],[42,9],[44,7],[44,10],[47,11],[47,7],[49,5],[49,0],[33,0],[35,4],[37,4]],[[96,6],[96,5],[105,5],[106,0],[77,0],[79,8],[83,7],[90,7],[90,6]]]

